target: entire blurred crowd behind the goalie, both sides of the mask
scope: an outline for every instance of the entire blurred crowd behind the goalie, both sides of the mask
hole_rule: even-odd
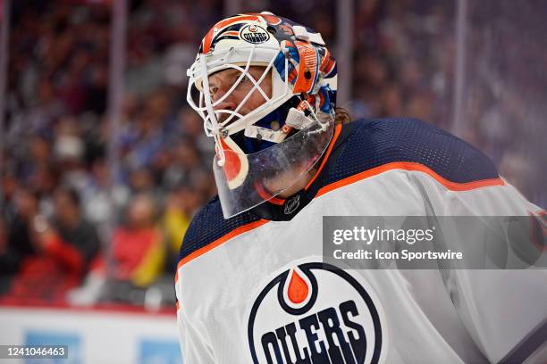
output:
[[[172,304],[182,236],[193,213],[215,195],[214,145],[186,104],[185,84],[199,40],[223,17],[223,2],[130,1],[115,173],[107,159],[109,4],[13,1],[0,153],[0,302]],[[335,51],[335,2],[241,4],[305,23]],[[354,118],[413,116],[450,129],[453,2],[371,0],[355,7],[347,105]],[[470,49],[486,53],[479,41],[484,21],[474,24],[469,32],[478,40]],[[502,65],[496,70],[474,60],[468,57],[471,70],[493,73],[482,82],[467,80],[465,137],[544,206],[546,196],[530,183],[534,165],[541,165],[534,158],[543,157],[515,142],[544,126],[519,128],[530,120],[523,95],[503,92],[514,85],[500,85],[495,72]],[[543,79],[528,81],[534,82]]]

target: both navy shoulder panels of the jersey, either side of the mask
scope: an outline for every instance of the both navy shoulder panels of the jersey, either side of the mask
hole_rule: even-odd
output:
[[[345,129],[345,130],[344,130]],[[452,182],[498,178],[492,161],[456,136],[415,119],[357,120],[342,129],[316,188],[393,161],[412,161]],[[313,198],[313,196],[311,196]],[[249,211],[223,218],[218,197],[192,222],[181,245],[179,261],[232,230],[260,219]]]

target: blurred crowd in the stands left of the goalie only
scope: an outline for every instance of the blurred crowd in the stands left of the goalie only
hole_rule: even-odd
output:
[[[184,82],[222,4],[130,3],[119,162],[111,173],[111,9],[91,3],[13,2],[2,302],[172,304],[182,236],[215,194],[214,145],[186,106]]]

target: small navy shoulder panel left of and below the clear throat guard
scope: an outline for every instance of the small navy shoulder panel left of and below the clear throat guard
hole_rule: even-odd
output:
[[[191,252],[213,243],[232,230],[257,221],[259,218],[249,212],[240,213],[231,219],[224,219],[221,204],[216,196],[207,203],[192,219],[181,245],[179,261]]]

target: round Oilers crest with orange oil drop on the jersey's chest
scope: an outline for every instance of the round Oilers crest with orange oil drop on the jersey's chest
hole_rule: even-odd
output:
[[[252,361],[382,362],[383,311],[359,278],[322,262],[291,264],[276,274],[248,310]]]

